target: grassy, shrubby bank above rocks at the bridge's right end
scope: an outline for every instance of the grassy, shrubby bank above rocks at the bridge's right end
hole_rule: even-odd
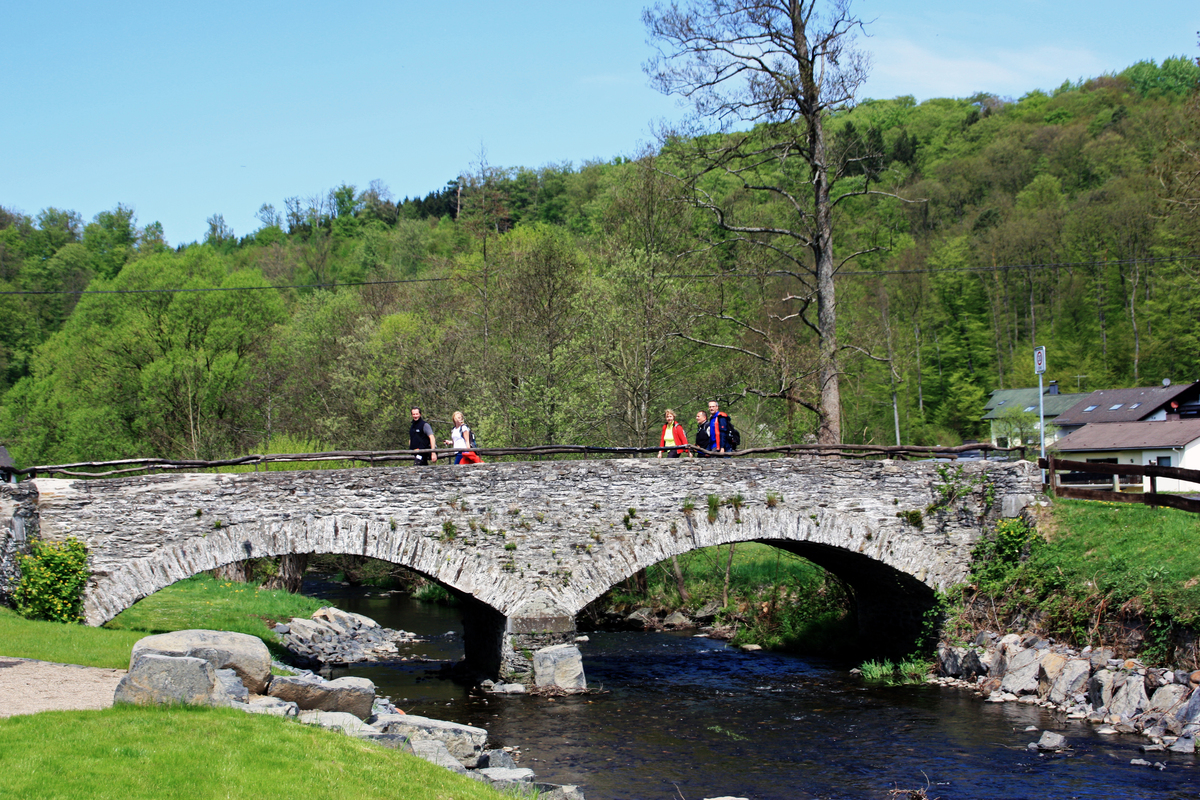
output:
[[[1036,630],[1170,663],[1200,627],[1198,545],[1200,515],[1055,500],[1036,529],[1002,521],[980,543],[949,633]]]

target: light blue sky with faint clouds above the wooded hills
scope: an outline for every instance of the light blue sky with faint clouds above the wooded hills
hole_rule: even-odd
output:
[[[173,243],[224,215],[382,180],[397,199],[468,170],[631,155],[674,100],[641,71],[643,0],[8,2],[0,205],[118,203]],[[857,0],[864,97],[1019,97],[1195,56],[1196,0]]]

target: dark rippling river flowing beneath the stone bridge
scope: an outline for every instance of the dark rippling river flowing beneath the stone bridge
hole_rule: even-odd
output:
[[[578,784],[588,800],[888,798],[895,788],[942,800],[1200,798],[1198,757],[1144,756],[1141,736],[1100,736],[960,690],[869,687],[833,664],[691,634],[590,633],[580,646],[592,693],[480,697],[436,663],[462,657],[455,609],[331,583],[305,593],[434,637],[410,648],[432,662],[336,675],[370,678],[409,714],[486,728],[491,746],[518,747],[539,780]],[[1040,735],[1028,726],[1063,733],[1072,751],[1027,751]]]

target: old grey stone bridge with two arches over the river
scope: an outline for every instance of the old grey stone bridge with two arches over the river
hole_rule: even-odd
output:
[[[468,661],[521,673],[518,654],[566,640],[587,603],[638,570],[757,541],[842,578],[886,649],[911,643],[988,525],[1040,488],[1028,462],[816,457],[37,479],[0,485],[0,593],[32,536],[86,543],[90,625],[232,561],[359,554],[458,594]]]

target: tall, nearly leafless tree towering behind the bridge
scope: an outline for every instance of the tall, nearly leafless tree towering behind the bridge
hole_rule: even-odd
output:
[[[850,197],[889,194],[872,190],[876,175],[860,169],[850,188],[834,193],[850,162],[827,144],[826,121],[853,102],[866,77],[869,60],[854,46],[862,22],[850,0],[672,1],[647,8],[643,20],[659,44],[647,73],[695,112],[688,136],[668,136],[666,149],[682,164],[676,176],[685,199],[708,210],[728,240],[764,249],[778,265],[775,275],[799,283],[786,291],[796,311],[785,315],[817,339],[816,363],[806,371],[815,381],[810,393],[792,381],[750,391],[810,409],[818,441],[840,443],[834,276],[869,251],[835,258],[834,210]],[[731,132],[746,124],[751,131]],[[730,182],[742,194],[781,201],[786,218],[743,211],[726,199]]]

